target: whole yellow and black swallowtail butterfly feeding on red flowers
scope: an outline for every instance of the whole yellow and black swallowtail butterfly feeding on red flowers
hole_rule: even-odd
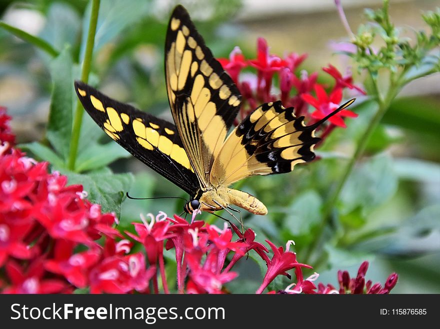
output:
[[[241,207],[264,215],[254,196],[229,188],[252,175],[280,174],[314,158],[314,129],[350,105],[305,126],[281,102],[255,109],[226,137],[241,95],[212,56],[188,13],[177,6],[165,41],[165,80],[174,124],[119,103],[82,83],[76,93],[88,114],[113,140],[190,195],[184,210]],[[231,209],[231,208],[230,208]]]

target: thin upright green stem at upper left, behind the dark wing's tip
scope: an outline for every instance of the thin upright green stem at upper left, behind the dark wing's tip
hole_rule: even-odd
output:
[[[91,55],[93,53],[94,35],[96,33],[96,24],[98,21],[99,0],[93,0],[91,3],[90,23],[88,26],[87,43],[85,45],[84,61],[82,63],[81,81],[87,83],[90,73]],[[75,117],[73,119],[72,135],[70,139],[70,152],[68,158],[68,169],[75,169],[76,154],[78,152],[79,134],[81,132],[82,114],[84,109],[79,100],[76,102]]]

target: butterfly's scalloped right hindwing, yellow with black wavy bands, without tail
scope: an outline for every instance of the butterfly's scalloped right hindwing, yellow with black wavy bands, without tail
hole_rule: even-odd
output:
[[[295,164],[313,160],[319,138],[303,119],[280,101],[259,106],[224,142],[212,165],[211,184],[228,186],[252,175],[290,172]]]

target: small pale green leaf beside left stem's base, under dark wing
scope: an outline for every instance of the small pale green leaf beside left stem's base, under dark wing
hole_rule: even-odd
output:
[[[91,144],[79,150],[76,158],[76,171],[82,172],[106,166],[120,158],[130,157],[130,153],[119,144]]]

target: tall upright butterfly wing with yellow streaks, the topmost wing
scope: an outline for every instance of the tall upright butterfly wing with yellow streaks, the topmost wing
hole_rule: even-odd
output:
[[[181,6],[174,9],[168,25],[165,79],[174,123],[204,188],[241,96]]]

